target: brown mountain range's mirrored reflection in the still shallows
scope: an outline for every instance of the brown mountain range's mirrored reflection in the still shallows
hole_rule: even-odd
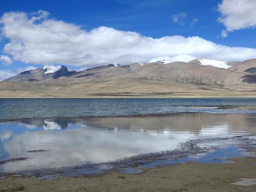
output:
[[[249,129],[255,125],[255,117],[240,114],[208,114],[188,113],[170,116],[145,117],[95,117],[95,118],[67,118],[67,119],[28,119],[22,120],[31,127],[41,127],[45,130],[61,130],[75,124],[108,130],[192,130],[200,133],[202,129],[218,129],[222,124],[232,129]],[[246,124],[246,126],[244,125]],[[222,128],[221,128],[222,129]],[[224,129],[224,128],[223,128]]]

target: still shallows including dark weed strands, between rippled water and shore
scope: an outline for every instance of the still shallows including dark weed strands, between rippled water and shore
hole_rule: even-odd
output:
[[[27,119],[1,122],[0,161],[27,159],[2,163],[0,172],[83,165],[79,169],[65,169],[65,174],[62,174],[77,176],[101,174],[110,170],[141,172],[138,168],[131,169],[131,166],[137,163],[141,164],[140,168],[171,165],[178,162],[174,158],[178,158],[179,163],[189,160],[225,163],[228,162],[225,158],[254,157],[256,154],[241,148],[245,145],[244,142],[248,142],[246,139],[211,139],[247,134],[256,134],[255,115],[192,113],[155,117]],[[191,148],[191,144],[188,144],[190,148],[184,151],[184,147],[180,147],[180,143],[198,139],[206,139],[198,144],[198,148]],[[246,143],[246,146],[255,144]],[[216,152],[217,148],[222,151]],[[29,175],[29,171],[26,174]]]

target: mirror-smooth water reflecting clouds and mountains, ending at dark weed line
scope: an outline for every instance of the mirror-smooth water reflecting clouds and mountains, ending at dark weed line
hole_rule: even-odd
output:
[[[182,114],[165,117],[32,119],[0,123],[0,171],[55,168],[115,161],[173,150],[181,142],[255,134],[250,115]],[[45,150],[41,152],[28,152]]]

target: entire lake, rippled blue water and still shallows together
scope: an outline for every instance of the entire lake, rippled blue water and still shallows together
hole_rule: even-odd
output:
[[[256,157],[255,106],[254,98],[0,99],[0,175],[234,163]]]

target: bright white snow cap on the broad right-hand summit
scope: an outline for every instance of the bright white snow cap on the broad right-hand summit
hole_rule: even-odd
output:
[[[217,68],[223,68],[223,69],[228,69],[232,66],[228,65],[228,62],[225,61],[217,61],[217,60],[208,60],[208,59],[199,59],[191,55],[177,55],[175,57],[156,57],[153,58],[150,62],[147,63],[152,63],[152,62],[158,62],[162,64],[170,63],[170,62],[194,62],[201,65],[212,65]]]

